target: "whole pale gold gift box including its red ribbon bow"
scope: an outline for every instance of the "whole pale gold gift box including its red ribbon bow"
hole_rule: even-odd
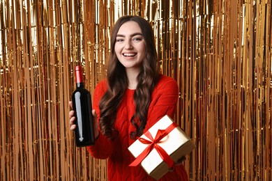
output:
[[[146,173],[158,180],[193,149],[195,144],[190,137],[169,116],[164,116],[129,146],[135,157],[130,166],[141,164]]]

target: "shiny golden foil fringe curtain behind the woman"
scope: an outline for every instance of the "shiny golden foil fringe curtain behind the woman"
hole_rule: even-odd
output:
[[[106,180],[105,160],[75,148],[73,68],[92,92],[105,78],[121,15],[155,31],[161,72],[174,77],[176,122],[195,141],[190,180],[270,180],[272,8],[260,1],[0,2],[0,180]]]

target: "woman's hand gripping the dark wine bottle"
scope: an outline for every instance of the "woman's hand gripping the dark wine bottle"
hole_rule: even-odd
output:
[[[73,102],[69,101],[70,107],[73,109]],[[96,110],[92,110],[91,113],[93,114],[93,131],[94,131],[94,136],[97,139],[99,136],[99,130],[98,130],[98,123],[97,123],[97,113]],[[77,125],[75,125],[75,111],[70,111],[69,112],[69,119],[70,119],[70,129],[72,131],[75,131],[75,128]]]

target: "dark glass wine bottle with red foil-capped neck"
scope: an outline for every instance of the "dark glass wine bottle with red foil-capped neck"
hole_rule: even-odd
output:
[[[77,88],[73,92],[73,110],[75,111],[75,144],[77,147],[93,145],[95,136],[93,131],[93,115],[91,113],[91,94],[84,88],[81,66],[75,67]]]

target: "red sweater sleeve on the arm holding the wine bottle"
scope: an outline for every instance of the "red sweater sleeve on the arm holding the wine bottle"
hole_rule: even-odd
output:
[[[96,113],[98,114],[97,119],[98,122],[100,118],[99,102],[106,90],[107,90],[106,81],[101,81],[100,84],[96,86],[93,92],[93,109],[95,109]],[[88,146],[87,150],[91,153],[93,157],[97,159],[107,159],[110,155],[112,155],[113,143],[111,140],[103,136],[103,134],[100,132],[98,139],[96,139],[95,144]]]

